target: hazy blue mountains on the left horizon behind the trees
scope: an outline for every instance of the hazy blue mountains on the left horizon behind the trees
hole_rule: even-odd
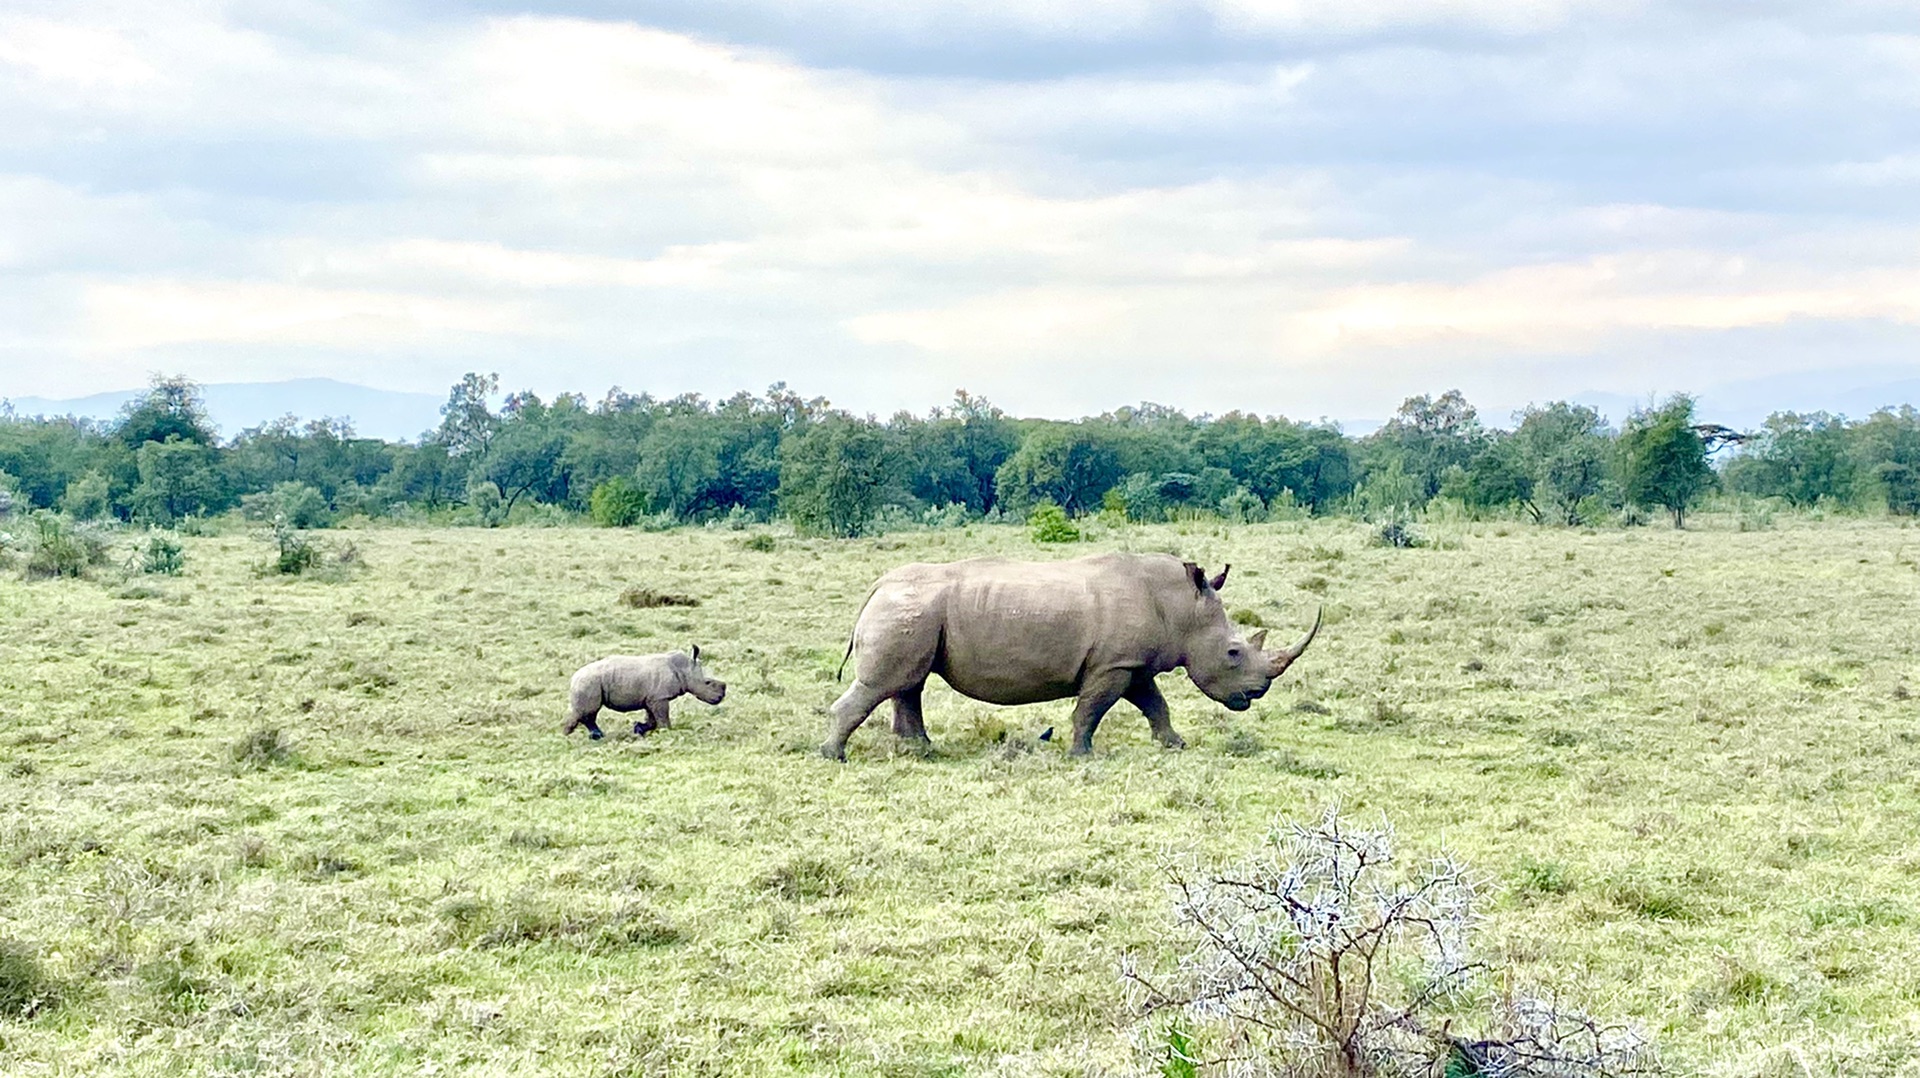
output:
[[[200,388],[207,400],[207,417],[227,438],[282,415],[298,415],[300,419],[351,419],[353,430],[363,438],[413,440],[440,427],[440,405],[445,404],[445,398],[434,394],[376,390],[334,379],[215,382]],[[73,400],[23,396],[12,404],[19,415],[113,419],[121,405],[144,392],[144,388],[115,390]]]

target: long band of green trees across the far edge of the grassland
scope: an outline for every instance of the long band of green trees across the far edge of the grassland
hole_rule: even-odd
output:
[[[221,440],[200,390],[156,379],[108,423],[0,415],[0,507],[175,525],[240,509],[294,527],[348,517],[507,523],[588,513],[632,527],[787,517],[852,536],[902,521],[1217,515],[1394,519],[1448,502],[1469,513],[1590,525],[1711,492],[1920,513],[1920,413],[1849,421],[1776,413],[1736,432],[1674,396],[1613,429],[1551,402],[1490,427],[1457,392],[1415,396],[1379,430],[1142,404],[1077,421],[1016,419],[958,392],[925,415],[852,415],[785,384],[764,396],[659,400],[611,390],[547,402],[467,375],[415,442],[292,415]]]

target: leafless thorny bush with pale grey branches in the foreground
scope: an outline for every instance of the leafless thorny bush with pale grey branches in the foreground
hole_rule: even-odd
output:
[[[1121,976],[1152,1038],[1162,1013],[1202,1026],[1160,1040],[1164,1074],[1292,1078],[1617,1078],[1653,1074],[1634,1026],[1553,999],[1478,992],[1478,884],[1438,857],[1394,870],[1394,832],[1338,809],[1267,834],[1225,872],[1169,865],[1173,917],[1192,938],[1167,980],[1129,955]],[[1484,1038],[1452,1032],[1484,1005]]]

